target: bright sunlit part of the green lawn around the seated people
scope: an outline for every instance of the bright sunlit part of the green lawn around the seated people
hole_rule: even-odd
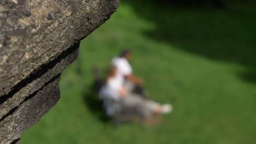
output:
[[[166,15],[166,20],[193,19],[180,15],[173,19]],[[222,19],[221,14],[215,16]],[[220,26],[207,30],[214,35]],[[238,75],[249,69],[247,65],[197,55],[182,45],[148,37],[157,28],[132,5],[121,3],[109,21],[82,41],[77,61],[62,73],[60,101],[26,131],[21,143],[254,143],[256,83]],[[187,34],[181,29],[172,33]],[[225,40],[220,43],[225,45]],[[133,69],[146,81],[149,97],[174,106],[156,127],[133,123],[113,128],[84,102],[84,94],[91,91],[91,66],[106,68],[124,47],[133,52]],[[197,46],[191,44],[191,49]]]

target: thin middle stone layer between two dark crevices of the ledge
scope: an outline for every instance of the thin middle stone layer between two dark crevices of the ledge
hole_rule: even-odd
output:
[[[27,97],[27,95],[38,91],[38,89],[42,88],[46,82],[53,79],[56,74],[60,74],[68,64],[74,61],[74,59],[77,57],[77,54],[78,45],[73,46],[69,48],[68,51],[63,52],[62,55],[56,58],[55,62],[52,62],[50,65],[44,65],[44,68],[38,71],[36,75],[34,75],[34,77],[31,79],[33,80],[31,83],[28,83],[26,86],[22,87],[18,92],[14,93],[9,99],[5,100],[0,105],[0,119],[7,115],[11,109],[19,106],[19,104]],[[45,70],[45,73],[43,70]]]

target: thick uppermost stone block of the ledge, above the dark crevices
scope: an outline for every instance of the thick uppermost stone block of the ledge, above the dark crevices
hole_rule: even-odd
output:
[[[86,37],[117,0],[0,1],[0,95]]]

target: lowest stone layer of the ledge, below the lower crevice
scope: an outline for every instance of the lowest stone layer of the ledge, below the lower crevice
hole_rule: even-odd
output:
[[[19,105],[19,109],[16,109],[0,122],[2,143],[10,143],[19,139],[26,129],[38,122],[43,114],[57,103],[60,95],[59,80],[59,75],[57,75],[45,87],[29,95]]]

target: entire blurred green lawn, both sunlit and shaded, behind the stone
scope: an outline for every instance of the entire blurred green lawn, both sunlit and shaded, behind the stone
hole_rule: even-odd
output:
[[[121,0],[61,75],[61,99],[21,143],[255,143],[254,1]],[[149,98],[174,111],[154,127],[114,128],[92,92],[91,67],[124,49]]]

